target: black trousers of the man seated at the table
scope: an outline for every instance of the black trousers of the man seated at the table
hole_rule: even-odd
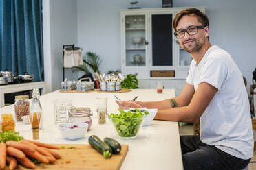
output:
[[[202,143],[199,136],[180,136],[180,145],[184,170],[242,170],[250,162]]]

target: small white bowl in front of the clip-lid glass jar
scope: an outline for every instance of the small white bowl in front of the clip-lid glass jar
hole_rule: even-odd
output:
[[[74,127],[74,125],[76,125],[77,127]],[[88,124],[87,123],[60,123],[58,124],[58,129],[61,131],[63,138],[66,138],[69,140],[76,140],[78,138],[83,138],[85,136],[85,132],[88,129]]]

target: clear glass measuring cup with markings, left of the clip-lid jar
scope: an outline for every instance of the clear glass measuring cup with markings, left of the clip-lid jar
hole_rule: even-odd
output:
[[[68,113],[70,112],[72,100],[54,100],[54,123],[67,123]]]

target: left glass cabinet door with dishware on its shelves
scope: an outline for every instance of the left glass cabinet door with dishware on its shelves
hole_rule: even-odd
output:
[[[145,66],[145,15],[125,16],[125,65]]]

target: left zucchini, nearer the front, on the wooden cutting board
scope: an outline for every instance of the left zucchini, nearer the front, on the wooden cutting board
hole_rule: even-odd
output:
[[[88,138],[89,145],[91,145],[94,149],[96,149],[100,154],[103,154],[104,158],[110,158],[112,155],[112,150],[107,143],[98,138],[96,135],[89,136]]]

